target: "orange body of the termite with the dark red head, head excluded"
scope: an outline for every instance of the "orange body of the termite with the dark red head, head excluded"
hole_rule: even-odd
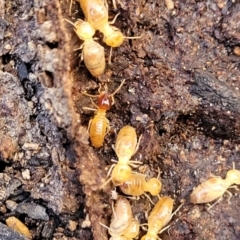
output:
[[[106,118],[106,111],[98,109],[89,128],[91,143],[95,148],[99,148],[103,145],[108,127],[109,121]]]

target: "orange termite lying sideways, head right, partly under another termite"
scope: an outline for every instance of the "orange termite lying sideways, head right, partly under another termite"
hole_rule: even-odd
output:
[[[132,196],[140,196],[144,192],[150,192],[152,196],[157,196],[162,188],[161,182],[157,178],[150,178],[146,181],[140,174],[131,174],[129,179],[120,185],[123,193]]]

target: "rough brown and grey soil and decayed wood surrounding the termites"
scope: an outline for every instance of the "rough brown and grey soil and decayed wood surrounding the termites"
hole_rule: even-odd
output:
[[[240,239],[239,189],[207,210],[194,205],[194,187],[212,175],[240,170],[240,1],[118,0],[109,19],[125,36],[105,48],[98,79],[80,61],[82,44],[73,26],[84,19],[79,2],[0,0],[0,240],[26,239],[6,226],[15,216],[32,239],[109,239],[112,184],[100,186],[116,160],[119,130],[142,135],[134,160],[147,178],[161,170],[161,196],[174,199],[170,228],[159,237],[187,240]],[[168,8],[167,8],[168,6]],[[99,84],[115,95],[107,111],[111,129],[95,149],[87,131],[89,97]],[[116,191],[121,194],[120,189]],[[157,202],[157,197],[152,197]],[[146,223],[145,197],[130,200]],[[141,229],[139,239],[145,234]]]

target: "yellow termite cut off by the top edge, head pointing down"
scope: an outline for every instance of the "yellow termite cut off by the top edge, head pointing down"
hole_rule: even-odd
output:
[[[110,26],[116,20],[108,22],[108,5],[106,0],[78,0],[85,15],[86,21],[89,22],[96,30],[103,33],[103,41],[110,47],[119,47],[124,38],[134,39],[140,37],[125,37],[120,29]]]

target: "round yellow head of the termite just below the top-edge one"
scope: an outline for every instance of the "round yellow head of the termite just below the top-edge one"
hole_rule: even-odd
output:
[[[81,19],[74,23],[75,32],[78,37],[82,40],[91,39],[95,34],[95,29],[89,22],[83,21]]]

